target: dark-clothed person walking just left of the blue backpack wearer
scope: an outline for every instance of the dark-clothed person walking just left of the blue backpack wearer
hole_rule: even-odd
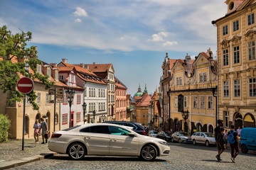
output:
[[[222,154],[225,151],[225,141],[223,140],[224,135],[224,128],[223,128],[223,120],[217,120],[218,126],[214,129],[214,135],[215,135],[215,142],[218,149],[218,154],[216,155],[216,158],[218,161],[221,161],[220,154]]]

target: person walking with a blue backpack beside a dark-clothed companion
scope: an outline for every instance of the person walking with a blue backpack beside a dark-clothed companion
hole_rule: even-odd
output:
[[[238,136],[238,132],[235,132],[235,125],[230,125],[230,131],[228,132],[228,142],[230,143],[231,160],[234,163],[235,163],[235,157],[237,157],[239,154],[238,140],[239,140],[239,136]]]

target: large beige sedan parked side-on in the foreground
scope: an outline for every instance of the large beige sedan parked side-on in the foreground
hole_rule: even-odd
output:
[[[122,125],[90,123],[53,132],[48,142],[53,152],[68,154],[71,159],[85,155],[140,157],[152,161],[168,156],[170,147],[161,139],[139,135]]]

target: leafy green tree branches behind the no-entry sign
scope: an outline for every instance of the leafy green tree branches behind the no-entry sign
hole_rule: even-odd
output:
[[[14,101],[21,101],[24,97],[19,91],[16,91],[16,82],[21,76],[26,76],[31,79],[38,79],[49,89],[54,84],[53,81],[48,81],[48,76],[43,76],[36,72],[37,64],[41,64],[38,60],[36,47],[26,47],[26,42],[30,41],[32,33],[16,33],[11,34],[6,26],[0,27],[0,90],[9,94],[9,104]],[[17,60],[26,59],[25,62],[12,62],[16,57]],[[26,65],[33,70],[28,72]],[[32,104],[34,110],[38,110],[39,106],[36,101],[36,92],[31,91],[28,96],[28,101]]]

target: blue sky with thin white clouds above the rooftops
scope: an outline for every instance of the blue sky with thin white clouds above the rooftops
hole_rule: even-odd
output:
[[[217,50],[216,27],[225,0],[0,0],[0,26],[31,31],[29,46],[47,63],[108,64],[127,86],[149,94],[171,59]]]

